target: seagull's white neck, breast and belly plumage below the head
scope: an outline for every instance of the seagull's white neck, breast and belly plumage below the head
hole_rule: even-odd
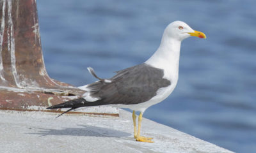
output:
[[[157,51],[145,63],[154,68],[163,69],[163,78],[170,80],[171,85],[163,87],[157,91],[157,95],[144,103],[136,105],[118,105],[122,108],[130,108],[144,112],[148,107],[160,103],[166,99],[176,87],[179,78],[179,55],[180,55],[180,41],[166,40],[161,42]]]

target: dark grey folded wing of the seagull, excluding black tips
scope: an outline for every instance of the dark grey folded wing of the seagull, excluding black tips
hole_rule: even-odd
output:
[[[143,103],[156,96],[158,89],[170,85],[163,75],[163,70],[147,64],[133,66],[118,71],[110,83],[90,84],[90,96],[100,98],[103,105]]]

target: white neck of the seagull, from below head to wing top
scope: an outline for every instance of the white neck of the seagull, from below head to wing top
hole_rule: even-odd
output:
[[[159,48],[145,63],[164,69],[168,73],[170,72],[168,69],[172,69],[172,72],[179,72],[180,43],[180,40],[163,36]]]

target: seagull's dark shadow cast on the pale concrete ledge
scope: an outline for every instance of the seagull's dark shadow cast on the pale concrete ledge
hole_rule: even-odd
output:
[[[63,128],[63,129],[41,129],[36,133],[29,133],[32,135],[40,135],[40,136],[47,136],[47,135],[56,135],[56,136],[97,136],[97,137],[127,137],[131,136],[131,133],[126,133],[123,131],[118,131],[115,129],[109,128],[101,128],[97,126],[88,126],[88,125],[81,125],[78,124],[77,126],[81,126],[83,128]]]

